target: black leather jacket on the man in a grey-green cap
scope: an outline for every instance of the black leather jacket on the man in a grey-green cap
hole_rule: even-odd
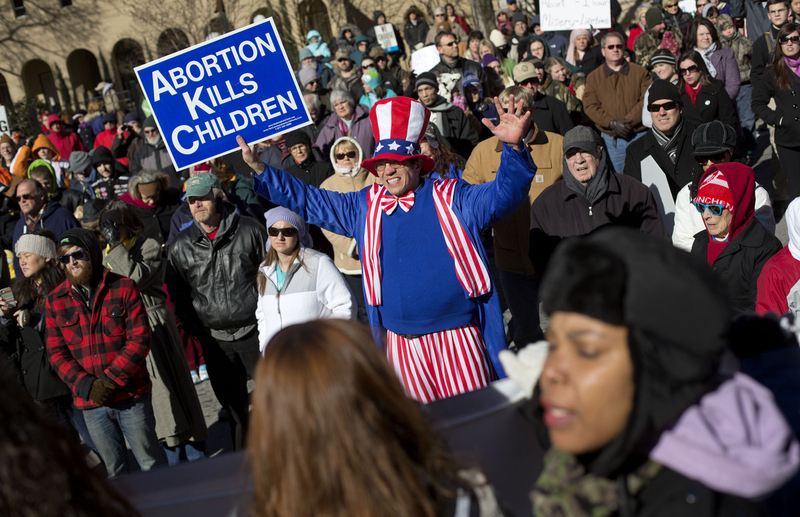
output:
[[[227,201],[213,241],[197,222],[180,232],[169,248],[166,279],[182,326],[235,331],[255,325],[266,244],[264,227]]]

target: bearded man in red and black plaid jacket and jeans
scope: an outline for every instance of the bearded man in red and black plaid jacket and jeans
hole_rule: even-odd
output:
[[[142,470],[166,463],[158,443],[145,359],[150,326],[136,284],[103,267],[94,233],[59,239],[67,280],[45,305],[47,351],[72,391],[109,477],[130,471],[127,447]]]

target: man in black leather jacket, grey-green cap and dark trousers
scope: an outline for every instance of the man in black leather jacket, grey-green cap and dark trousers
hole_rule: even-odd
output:
[[[211,387],[230,415],[231,438],[245,444],[247,377],[259,357],[256,274],[267,231],[222,199],[213,174],[186,182],[192,224],[169,247],[167,287],[181,327],[203,347]]]

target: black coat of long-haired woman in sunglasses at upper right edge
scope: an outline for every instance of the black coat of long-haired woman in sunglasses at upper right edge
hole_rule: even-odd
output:
[[[775,99],[775,109],[767,105]],[[789,70],[789,89],[778,85],[772,67],[753,86],[753,113],[775,126],[775,143],[784,147],[800,147],[800,77]]]

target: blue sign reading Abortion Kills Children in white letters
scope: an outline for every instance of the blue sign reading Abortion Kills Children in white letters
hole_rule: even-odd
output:
[[[272,18],[136,68],[175,168],[311,124]]]

